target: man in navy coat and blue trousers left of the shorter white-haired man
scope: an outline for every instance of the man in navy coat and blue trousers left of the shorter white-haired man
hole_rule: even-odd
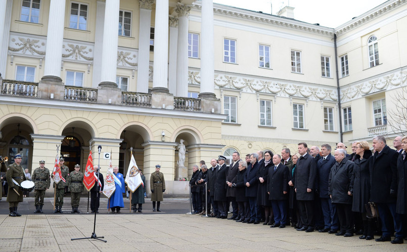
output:
[[[336,215],[336,207],[332,205],[331,197],[329,196],[329,174],[331,167],[335,164],[335,158],[331,155],[332,147],[329,144],[321,145],[322,158],[316,162],[319,180],[319,196],[321,200],[322,213],[324,215],[324,228],[318,232],[336,233],[339,228],[339,220]]]

